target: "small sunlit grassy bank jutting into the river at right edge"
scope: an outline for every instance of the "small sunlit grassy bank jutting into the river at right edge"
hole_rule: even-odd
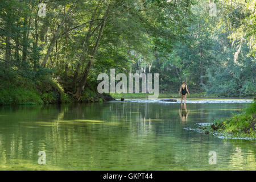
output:
[[[255,100],[242,114],[234,114],[227,119],[218,119],[210,126],[203,126],[201,129],[205,134],[220,133],[234,137],[256,138],[256,103]]]

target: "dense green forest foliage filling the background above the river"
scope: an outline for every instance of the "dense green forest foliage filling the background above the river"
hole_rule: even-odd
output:
[[[217,17],[206,0],[49,1],[45,17],[37,16],[39,2],[0,5],[0,88],[36,90],[56,103],[89,82],[81,98],[94,100],[98,74],[115,68],[159,73],[160,93],[177,93],[186,80],[196,93],[255,94],[252,0],[215,1]]]

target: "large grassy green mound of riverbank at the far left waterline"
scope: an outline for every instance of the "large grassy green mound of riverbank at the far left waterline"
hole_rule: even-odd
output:
[[[67,103],[70,98],[55,80],[8,83],[0,87],[0,105]]]

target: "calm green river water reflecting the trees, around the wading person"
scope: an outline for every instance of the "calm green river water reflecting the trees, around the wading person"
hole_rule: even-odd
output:
[[[1,170],[255,170],[255,140],[199,133],[250,100],[1,106]],[[38,152],[46,164],[38,163]],[[209,152],[216,154],[210,164]],[[41,161],[41,160],[40,160]]]

